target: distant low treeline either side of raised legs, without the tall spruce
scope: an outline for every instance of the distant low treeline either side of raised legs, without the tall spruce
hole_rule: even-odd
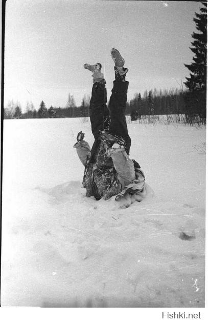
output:
[[[178,89],[151,90],[145,91],[143,97],[141,93],[136,93],[134,98],[127,102],[126,115],[131,115],[132,120],[140,118],[142,115],[154,114],[182,114],[184,113],[183,91]],[[40,103],[36,109],[33,103],[26,104],[26,112],[22,112],[20,104],[14,104],[11,100],[4,108],[5,119],[30,119],[30,118],[73,118],[89,116],[90,96],[84,95],[81,106],[76,106],[73,95],[68,95],[68,100],[64,108],[53,107],[47,109],[44,102]]]

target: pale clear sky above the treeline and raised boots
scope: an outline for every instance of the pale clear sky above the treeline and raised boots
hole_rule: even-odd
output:
[[[5,106],[22,110],[41,100],[65,107],[68,93],[77,105],[91,93],[84,63],[101,63],[108,99],[114,79],[112,47],[129,69],[128,99],[157,88],[179,88],[192,62],[193,1],[7,0]],[[176,82],[177,80],[177,82]]]

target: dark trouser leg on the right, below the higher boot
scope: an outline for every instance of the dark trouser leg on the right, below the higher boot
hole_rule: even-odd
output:
[[[110,126],[109,131],[113,135],[118,135],[124,138],[126,142],[126,152],[129,155],[131,146],[131,138],[128,134],[125,110],[127,102],[127,90],[129,82],[117,82],[114,80],[112,94],[109,101],[110,110]]]

